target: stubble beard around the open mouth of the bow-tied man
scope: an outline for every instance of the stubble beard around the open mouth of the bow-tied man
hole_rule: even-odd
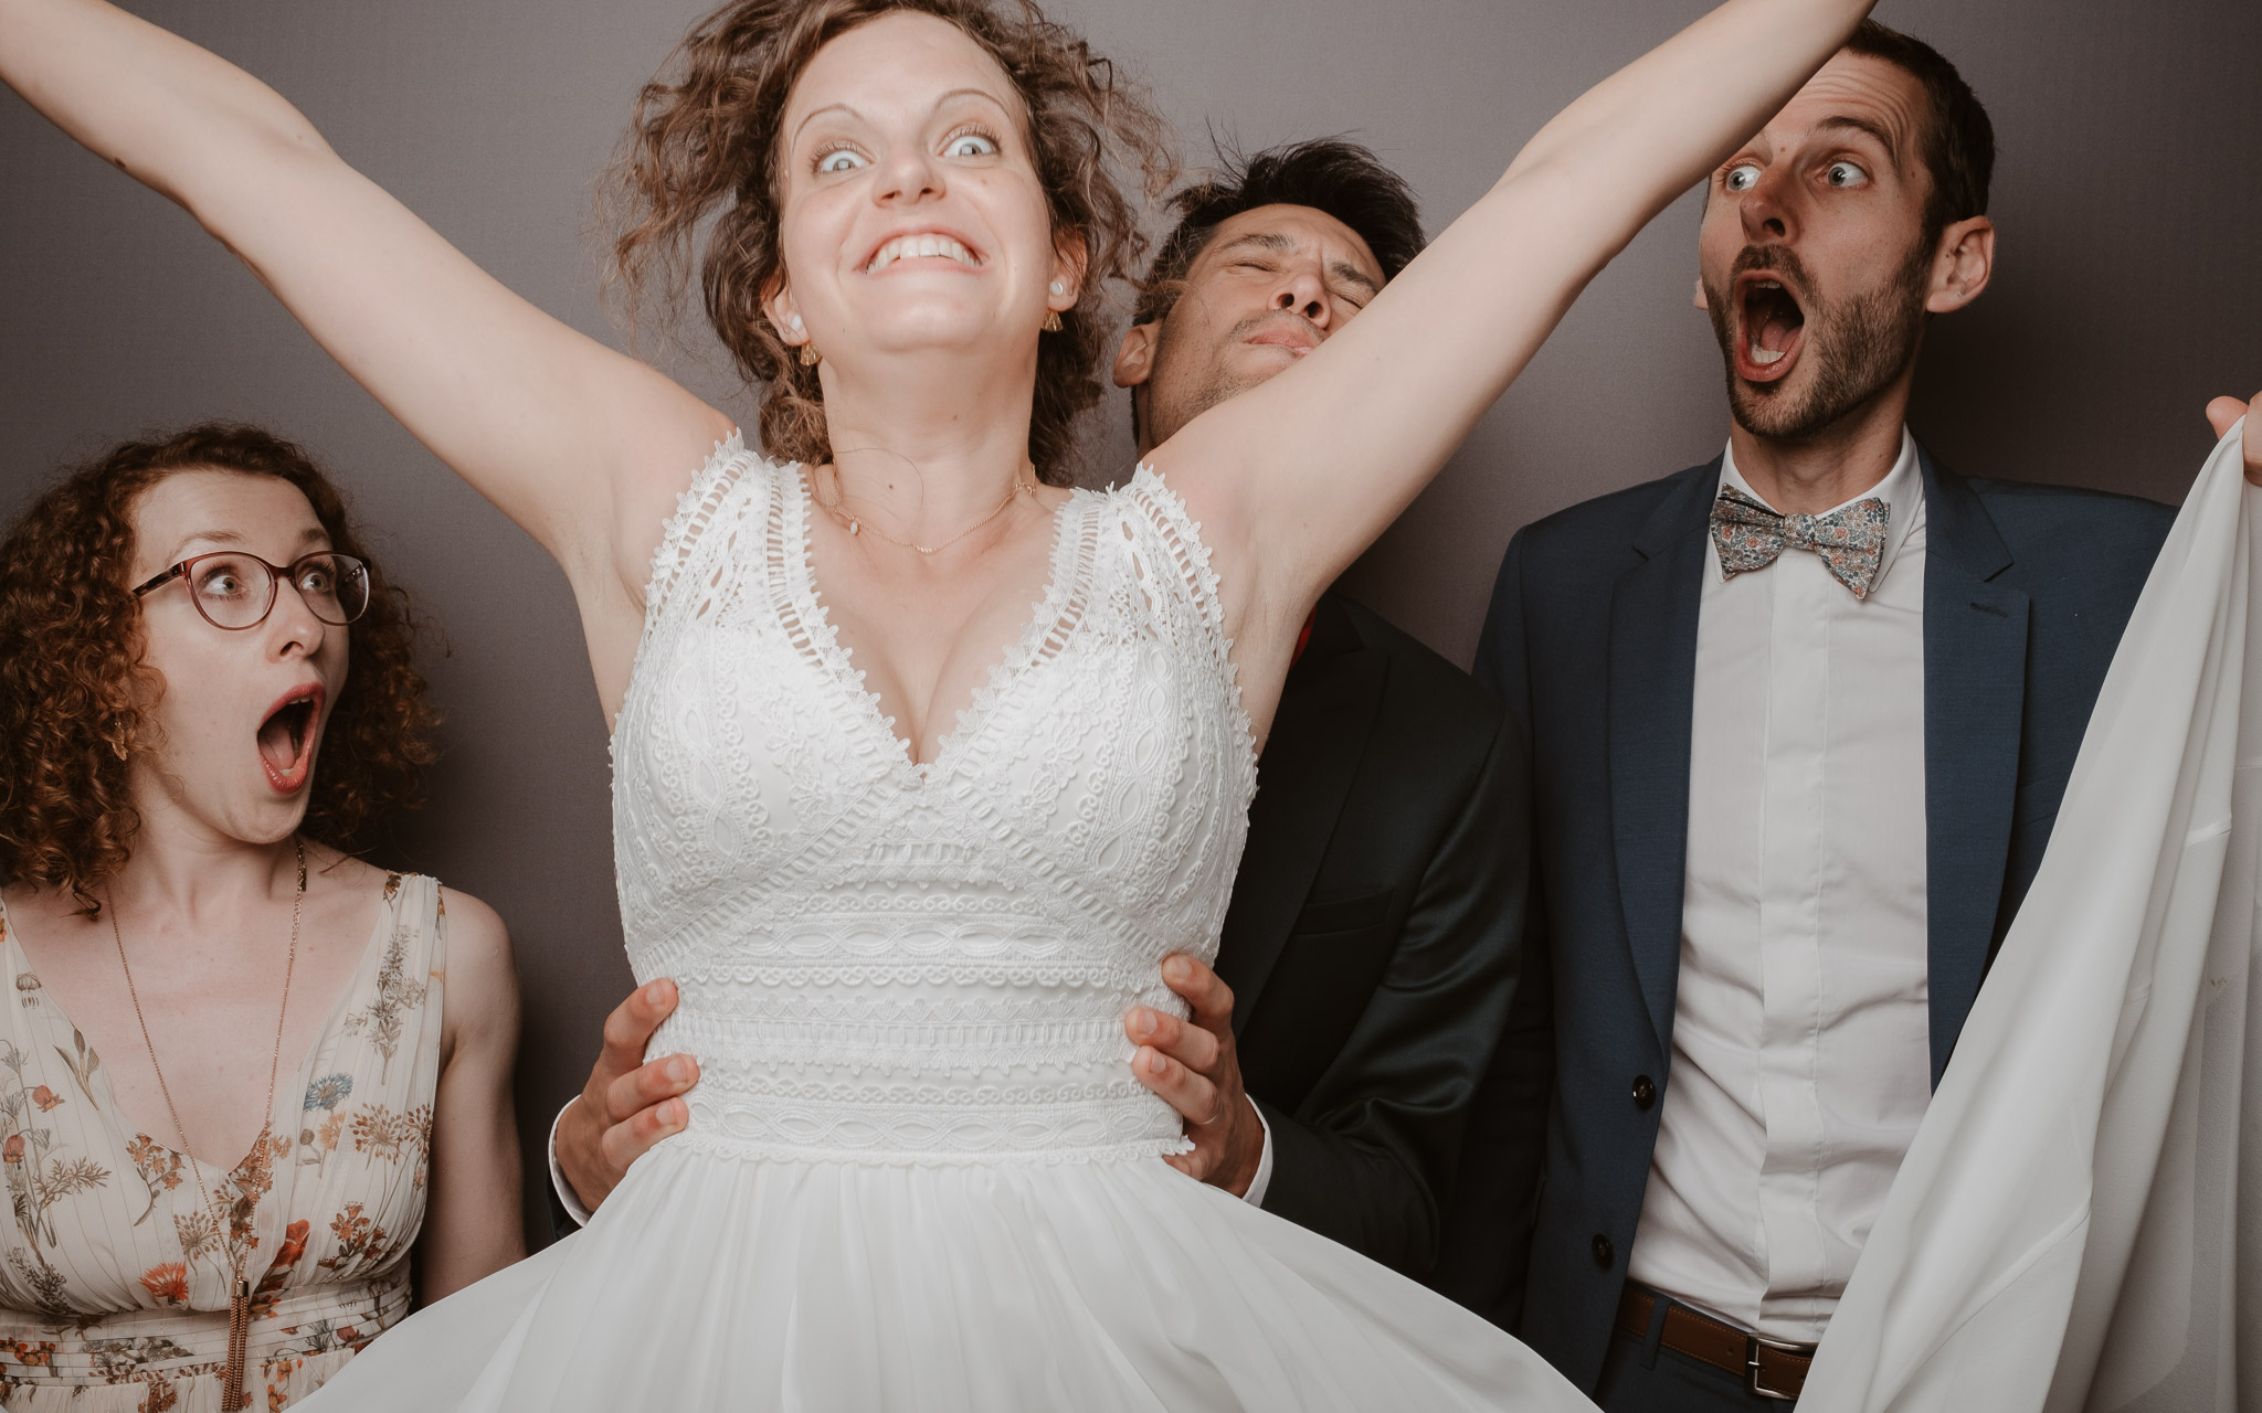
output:
[[[1789,380],[1744,382],[1735,373],[1735,276],[1760,267],[1782,271],[1803,296],[1803,357],[1814,362],[1803,393],[1789,391]],[[1916,362],[1916,346],[1925,335],[1932,242],[1918,242],[1889,280],[1837,305],[1812,294],[1814,280],[1787,249],[1749,246],[1730,267],[1728,280],[1728,289],[1706,285],[1706,312],[1728,369],[1728,414],[1753,436],[1803,441],[1875,398]]]

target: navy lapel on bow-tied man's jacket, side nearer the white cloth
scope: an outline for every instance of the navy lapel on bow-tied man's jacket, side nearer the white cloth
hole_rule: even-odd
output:
[[[1918,448],[1925,470],[1925,916],[1932,1083],[1941,1083],[1986,974],[2011,855],[2027,705],[2024,592],[1963,477]]]

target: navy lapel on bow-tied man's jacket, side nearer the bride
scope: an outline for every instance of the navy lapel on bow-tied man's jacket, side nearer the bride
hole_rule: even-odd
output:
[[[1687,873],[1696,608],[1719,459],[1681,473],[1633,540],[1611,595],[1611,830],[1642,1002],[1669,1049]]]

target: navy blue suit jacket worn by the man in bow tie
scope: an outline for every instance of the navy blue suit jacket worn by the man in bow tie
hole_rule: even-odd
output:
[[[1932,1081],[2049,843],[2174,511],[1925,475]],[[1525,527],[1477,681],[1531,739],[1525,979],[1432,1284],[1595,1388],[1663,1096],[1690,814],[1696,604],[1719,461]]]

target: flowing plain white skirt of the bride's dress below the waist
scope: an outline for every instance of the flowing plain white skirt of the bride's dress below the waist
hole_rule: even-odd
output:
[[[1592,1408],[1486,1320],[1158,1158],[893,1167],[670,1139],[588,1230],[305,1408]]]

